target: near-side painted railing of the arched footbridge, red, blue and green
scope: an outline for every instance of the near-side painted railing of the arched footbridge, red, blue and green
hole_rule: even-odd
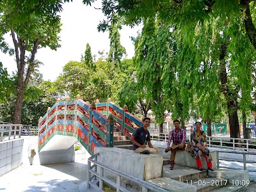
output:
[[[38,149],[55,135],[74,136],[93,154],[94,147],[113,147],[113,119],[100,114],[94,104],[77,98],[59,100],[38,122]]]

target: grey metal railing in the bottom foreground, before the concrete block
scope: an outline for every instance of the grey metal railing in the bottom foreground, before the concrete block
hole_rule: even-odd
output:
[[[138,179],[132,175],[129,175],[124,172],[120,172],[119,170],[116,170],[115,168],[111,168],[110,166],[107,166],[106,164],[100,163],[97,161],[97,156],[99,156],[99,153],[94,154],[92,157],[88,158],[88,170],[87,170],[87,188],[91,188],[91,186],[98,191],[102,191],[103,189],[103,182],[108,183],[109,185],[113,186],[113,188],[116,188],[116,191],[129,191],[128,189],[121,186],[121,177],[128,179],[142,187],[142,192],[147,192],[148,189],[151,191],[163,191],[167,192],[165,189],[159,188],[155,186],[154,184],[150,184],[149,182],[146,182],[145,180]],[[92,165],[93,163],[93,165]],[[97,166],[99,166],[99,173],[97,172]],[[94,168],[94,170],[93,170]],[[112,180],[107,179],[103,176],[104,170],[108,170],[109,172],[116,174],[116,182],[113,182]],[[91,175],[92,174],[92,175]],[[97,184],[94,184],[92,182],[92,179],[99,178],[99,186]]]

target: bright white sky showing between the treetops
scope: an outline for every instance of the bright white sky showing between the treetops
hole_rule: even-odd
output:
[[[102,11],[94,8],[99,8],[100,2],[96,1],[92,7],[86,6],[81,0],[63,4],[63,12],[59,14],[63,24],[60,32],[61,47],[57,51],[48,47],[38,49],[35,56],[36,60],[44,63],[39,68],[44,80],[54,81],[68,61],[80,61],[87,43],[91,46],[92,55],[99,55],[98,51],[102,50],[109,52],[108,31],[105,33],[97,31],[97,25],[104,19]],[[120,42],[126,49],[127,58],[134,56],[134,45],[130,36],[137,36],[137,31],[140,29],[141,26],[135,28],[124,26],[120,30]],[[5,35],[4,38],[13,47],[10,35]],[[0,61],[9,74],[17,70],[15,56],[0,52]]]

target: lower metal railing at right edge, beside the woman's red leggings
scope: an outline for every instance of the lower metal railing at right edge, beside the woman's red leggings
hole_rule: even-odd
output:
[[[225,153],[225,154],[243,154],[243,160],[238,160],[236,159],[236,162],[243,162],[243,170],[248,170],[249,172],[256,172],[256,169],[255,170],[250,170],[250,169],[247,169],[247,166],[246,164],[247,163],[256,163],[256,160],[255,161],[248,161],[246,159],[246,155],[251,155],[251,156],[256,156],[256,152],[245,152],[245,151],[237,151],[237,150],[216,150],[217,152],[217,168],[227,168],[226,166],[220,166],[220,160],[223,160],[223,161],[232,161],[234,162],[234,158],[232,159],[227,159],[227,158],[220,158],[220,153]],[[239,168],[232,168],[232,166],[228,166],[228,169],[234,169],[234,170],[240,170]]]

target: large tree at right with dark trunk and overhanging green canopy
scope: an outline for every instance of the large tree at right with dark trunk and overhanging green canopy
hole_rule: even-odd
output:
[[[106,2],[104,1],[103,4],[106,5]],[[192,56],[201,58],[201,61],[197,60],[196,65],[191,70],[196,69],[198,71],[197,65],[204,62],[205,58],[208,59],[206,65],[213,65],[217,70],[220,79],[219,89],[225,96],[227,104],[230,136],[239,137],[237,110],[241,108],[246,111],[248,102],[246,103],[244,100],[248,100],[249,103],[251,100],[250,92],[252,91],[252,86],[250,84],[252,79],[250,75],[241,76],[241,74],[244,74],[243,72],[241,73],[241,68],[246,69],[246,74],[252,74],[252,53],[255,52],[256,48],[256,29],[253,24],[253,20],[255,20],[255,0],[159,0],[150,2],[111,0],[108,1],[108,6],[104,7],[102,11],[108,17],[108,20],[101,22],[99,25],[99,28],[103,31],[108,28],[108,21],[115,22],[115,14],[124,17],[125,22],[131,25],[138,24],[141,20],[157,15],[159,20],[177,27],[180,30],[179,41],[182,42],[182,45],[188,45],[189,49],[197,51]],[[212,26],[214,33],[205,38],[202,26],[207,25]],[[209,49],[204,48],[204,52],[198,51],[200,44],[204,44],[202,41],[199,42],[198,38],[204,38],[206,43],[209,42]],[[254,47],[253,51],[252,47]],[[204,57],[200,56],[200,54]],[[249,60],[244,60],[245,55],[250,55]],[[193,59],[191,61],[193,63],[196,60]],[[191,80],[191,77],[186,78],[185,76],[182,81],[186,83],[189,79]],[[241,92],[241,89],[243,89],[243,92]],[[188,93],[184,88],[179,91],[182,92],[182,95]],[[241,96],[239,92],[241,92]],[[214,94],[216,95],[216,93],[218,94],[218,91]],[[180,106],[184,108],[184,105]],[[211,105],[212,109],[214,109],[213,107],[214,105]]]

